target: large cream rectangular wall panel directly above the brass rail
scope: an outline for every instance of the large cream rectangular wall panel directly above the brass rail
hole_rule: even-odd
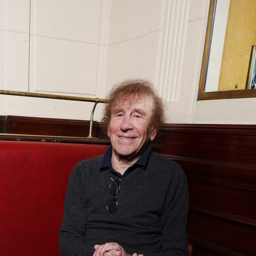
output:
[[[30,1],[29,91],[103,95],[111,1],[92,3],[81,1],[68,11],[69,2]],[[46,22],[54,14],[58,17]]]

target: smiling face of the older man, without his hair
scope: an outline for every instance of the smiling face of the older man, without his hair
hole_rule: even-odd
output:
[[[150,129],[153,114],[153,99],[140,97],[118,101],[113,105],[108,136],[113,147],[113,156],[134,162],[140,158],[149,139],[156,136],[157,128]]]

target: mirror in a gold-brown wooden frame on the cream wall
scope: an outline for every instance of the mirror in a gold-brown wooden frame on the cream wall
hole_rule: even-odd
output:
[[[246,90],[254,88],[255,13],[255,0],[211,0],[199,100],[256,97]]]

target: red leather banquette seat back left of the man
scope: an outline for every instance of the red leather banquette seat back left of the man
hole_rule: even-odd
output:
[[[0,255],[59,256],[59,228],[76,163],[108,145],[0,140]]]

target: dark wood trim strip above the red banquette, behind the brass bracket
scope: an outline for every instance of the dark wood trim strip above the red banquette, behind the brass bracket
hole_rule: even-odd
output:
[[[102,135],[100,127],[101,124],[93,122],[92,135],[98,139],[88,139],[90,128],[88,120],[0,116],[0,139],[110,144],[109,139]]]

